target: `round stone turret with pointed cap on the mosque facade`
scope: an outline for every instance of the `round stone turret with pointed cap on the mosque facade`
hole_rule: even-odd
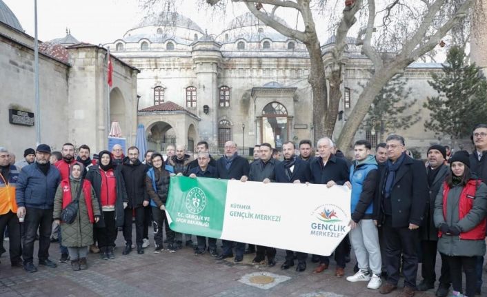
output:
[[[218,72],[221,67],[221,44],[217,43],[208,33],[192,43],[192,59],[196,65],[197,75],[197,115],[199,137],[210,145],[218,145]],[[208,105],[208,110],[203,110]]]

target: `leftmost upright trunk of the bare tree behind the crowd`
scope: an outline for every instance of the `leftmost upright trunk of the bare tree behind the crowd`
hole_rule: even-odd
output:
[[[308,76],[308,82],[311,85],[313,94],[313,102],[310,108],[313,110],[313,138],[316,142],[323,136],[331,135],[327,134],[327,131],[333,131],[335,122],[333,122],[330,128],[325,65],[321,58],[319,42],[315,40],[314,42],[306,43],[306,48],[308,48],[308,52],[310,53],[310,75]]]

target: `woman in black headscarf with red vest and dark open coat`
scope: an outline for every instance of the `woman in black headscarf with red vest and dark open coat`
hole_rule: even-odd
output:
[[[98,165],[90,167],[86,179],[95,189],[102,211],[100,221],[95,225],[95,239],[100,257],[107,260],[115,258],[113,248],[117,228],[123,226],[123,202],[128,203],[128,198],[120,168],[113,164],[110,152],[103,150],[98,158]]]

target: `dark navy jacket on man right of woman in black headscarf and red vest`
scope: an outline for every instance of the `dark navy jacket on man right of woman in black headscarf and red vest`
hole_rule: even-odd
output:
[[[128,196],[128,207],[137,208],[142,206],[143,201],[149,201],[146,191],[146,174],[149,167],[137,160],[130,164],[129,158],[123,159],[121,172]]]

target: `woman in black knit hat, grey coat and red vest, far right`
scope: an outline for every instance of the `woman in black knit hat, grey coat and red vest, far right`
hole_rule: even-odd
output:
[[[456,152],[450,161],[450,173],[435,201],[438,252],[448,258],[452,296],[473,297],[476,258],[486,253],[487,186],[471,173],[468,152]],[[464,295],[462,272],[466,278]]]

